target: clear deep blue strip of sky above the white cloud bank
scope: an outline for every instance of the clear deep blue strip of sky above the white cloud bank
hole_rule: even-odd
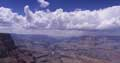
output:
[[[47,9],[54,11],[58,8],[62,8],[64,11],[73,11],[75,9],[82,10],[95,10],[106,8],[110,6],[120,5],[120,0],[46,0],[50,2]],[[0,0],[0,6],[11,8],[14,12],[19,14],[23,13],[25,5],[29,5],[32,11],[41,8],[37,0]]]

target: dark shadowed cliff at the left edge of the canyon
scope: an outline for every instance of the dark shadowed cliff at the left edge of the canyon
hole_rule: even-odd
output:
[[[14,48],[15,44],[10,34],[0,33],[0,58],[6,57],[7,53]]]

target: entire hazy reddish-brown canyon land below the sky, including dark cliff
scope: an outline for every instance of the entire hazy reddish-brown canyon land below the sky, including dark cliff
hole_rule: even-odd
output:
[[[120,36],[48,38],[0,34],[0,63],[120,63]]]

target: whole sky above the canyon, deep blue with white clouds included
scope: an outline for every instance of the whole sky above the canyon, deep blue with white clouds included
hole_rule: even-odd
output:
[[[120,0],[0,0],[0,32],[39,34],[43,30],[69,30],[71,35],[77,35],[75,30],[112,30],[116,33],[120,31],[119,13]]]

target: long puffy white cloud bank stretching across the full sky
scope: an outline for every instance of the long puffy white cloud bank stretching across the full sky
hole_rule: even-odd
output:
[[[32,12],[29,6],[24,7],[25,16],[14,13],[9,8],[0,7],[0,32],[10,31],[28,33],[29,30],[77,30],[77,29],[120,29],[120,6],[100,10],[75,10]]]

